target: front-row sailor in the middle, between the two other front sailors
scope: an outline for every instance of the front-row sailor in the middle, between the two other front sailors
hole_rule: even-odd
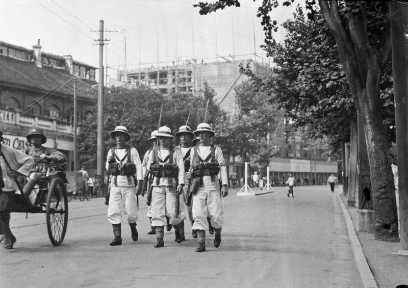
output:
[[[176,242],[182,242],[180,222],[183,216],[177,211],[179,207],[176,204],[179,202],[177,198],[183,193],[184,162],[180,149],[171,147],[174,136],[169,127],[160,127],[156,137],[160,145],[150,151],[146,169],[151,167],[154,175],[150,210],[151,225],[156,229],[155,247],[158,248],[164,246],[166,214],[174,227]]]

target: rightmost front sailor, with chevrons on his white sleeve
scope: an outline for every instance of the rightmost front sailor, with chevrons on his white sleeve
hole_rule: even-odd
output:
[[[191,150],[191,168],[189,175],[195,176],[193,195],[193,229],[197,231],[198,247],[196,252],[206,251],[206,230],[209,229],[207,217],[215,229],[214,247],[221,244],[221,229],[224,224],[221,197],[228,195],[228,176],[222,150],[218,145],[211,145],[210,138],[215,133],[207,123],[200,123],[194,131],[200,138],[200,145]],[[221,185],[218,179],[221,176]],[[192,185],[193,185],[192,184]]]

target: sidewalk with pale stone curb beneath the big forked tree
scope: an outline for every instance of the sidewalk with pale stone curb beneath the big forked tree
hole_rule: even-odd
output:
[[[341,186],[337,191],[341,191],[340,188]],[[408,256],[392,254],[401,250],[400,243],[379,241],[374,239],[374,234],[356,232],[357,208],[347,207],[347,196],[339,195],[337,197],[344,203],[343,213],[348,212],[351,217],[351,222],[348,224],[353,225],[349,229],[350,245],[353,248],[354,261],[359,269],[363,287],[391,288],[398,285],[408,285]],[[345,215],[345,219],[347,219],[347,215]],[[369,266],[366,271],[364,263],[368,263]]]

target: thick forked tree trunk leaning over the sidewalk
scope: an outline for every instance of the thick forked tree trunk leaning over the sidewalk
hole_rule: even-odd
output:
[[[337,1],[319,0],[319,6],[336,39],[351,96],[363,119],[371,170],[375,233],[378,238],[392,240],[398,237],[397,206],[379,98],[380,65],[386,63],[390,45],[385,41],[381,55],[371,46],[362,11],[351,14],[346,29]]]

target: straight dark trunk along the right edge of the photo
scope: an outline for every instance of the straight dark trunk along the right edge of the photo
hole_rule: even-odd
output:
[[[394,81],[395,123],[397,134],[400,240],[408,250],[408,95],[405,37],[408,9],[403,3],[390,2],[392,70]]]

